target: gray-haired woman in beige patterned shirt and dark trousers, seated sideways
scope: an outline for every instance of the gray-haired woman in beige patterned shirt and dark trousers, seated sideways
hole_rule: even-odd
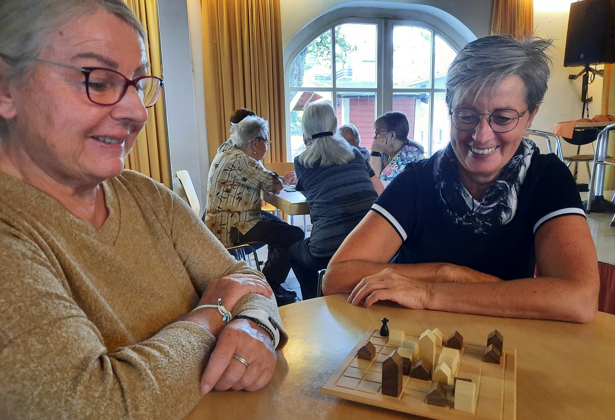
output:
[[[261,160],[267,154],[269,123],[248,115],[231,130],[231,149],[218,152],[209,168],[204,220],[226,247],[247,242],[268,244],[263,274],[278,305],[295,301],[297,294],[282,286],[290,271],[288,249],[303,240],[300,227],[261,215],[261,191],[279,192],[283,183],[296,182],[294,171],[284,177],[268,171]]]

